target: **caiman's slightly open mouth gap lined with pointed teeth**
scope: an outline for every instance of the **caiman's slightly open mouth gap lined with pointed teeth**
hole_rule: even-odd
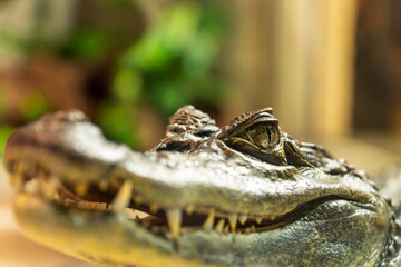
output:
[[[38,166],[33,168],[32,165],[25,162],[14,164],[11,171],[11,185],[19,194],[40,197],[47,204],[63,208],[67,212],[78,209],[123,215],[134,224],[162,237],[173,235],[178,238],[182,234],[196,230],[227,235],[268,231],[299,219],[311,204],[333,199],[333,197],[315,199],[277,216],[254,216],[195,205],[188,205],[186,208],[163,207],[143,199],[129,180],[117,186],[110,184],[113,182],[71,184],[51,175],[45,168]]]

